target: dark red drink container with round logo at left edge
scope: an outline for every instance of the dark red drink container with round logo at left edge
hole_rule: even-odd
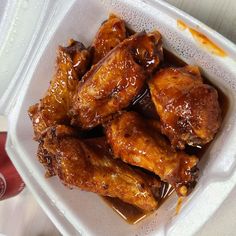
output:
[[[0,132],[0,200],[14,197],[25,187],[5,151],[6,132]]]

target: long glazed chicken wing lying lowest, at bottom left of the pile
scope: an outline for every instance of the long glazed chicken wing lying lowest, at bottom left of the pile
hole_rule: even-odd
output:
[[[156,209],[158,203],[151,186],[160,189],[162,183],[159,180],[147,177],[145,173],[140,174],[122,161],[113,159],[104,148],[104,140],[85,142],[74,137],[73,132],[66,126],[58,125],[49,128],[43,139],[43,148],[51,156],[47,160],[51,164],[50,170],[65,185],[117,197],[144,211]]]

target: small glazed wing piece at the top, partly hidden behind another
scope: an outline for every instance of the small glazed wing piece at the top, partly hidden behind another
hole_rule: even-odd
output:
[[[125,22],[115,15],[110,15],[99,28],[93,41],[91,51],[93,64],[96,64],[114,47],[126,38]]]

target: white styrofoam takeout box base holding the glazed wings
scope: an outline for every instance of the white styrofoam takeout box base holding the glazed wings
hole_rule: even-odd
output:
[[[25,32],[29,43],[25,50],[18,52],[16,58],[19,60],[13,65],[12,76],[5,74],[7,89],[0,99],[0,111],[8,114],[9,119],[7,152],[39,204],[64,235],[183,236],[196,233],[236,185],[235,45],[163,1],[45,0],[40,4],[40,14],[39,10],[30,7],[30,13],[26,11],[24,14],[24,17],[27,14],[32,17],[34,26],[29,24]],[[123,221],[97,195],[69,190],[56,177],[44,178],[44,169],[36,158],[37,143],[32,140],[33,129],[27,115],[28,107],[37,102],[48,87],[54,73],[58,45],[65,45],[69,38],[89,45],[101,22],[111,12],[125,19],[136,31],[158,29],[167,49],[187,63],[198,65],[229,99],[222,127],[200,162],[199,182],[184,201],[181,212],[175,215],[177,197],[172,195],[155,213],[136,225]],[[177,19],[204,33],[228,56],[219,57],[206,51],[188,30],[181,31],[177,27]],[[9,30],[9,35],[11,33]],[[6,35],[4,40],[5,43],[8,40]],[[16,44],[13,42],[12,46]],[[6,48],[9,47],[6,45],[2,51],[0,49],[0,59]],[[6,67],[10,66],[7,63],[3,61]],[[17,92],[13,91],[14,88]]]

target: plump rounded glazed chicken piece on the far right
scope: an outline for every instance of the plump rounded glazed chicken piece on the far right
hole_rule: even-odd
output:
[[[214,138],[221,124],[218,93],[202,82],[197,67],[163,69],[148,84],[173,147],[203,146]]]

